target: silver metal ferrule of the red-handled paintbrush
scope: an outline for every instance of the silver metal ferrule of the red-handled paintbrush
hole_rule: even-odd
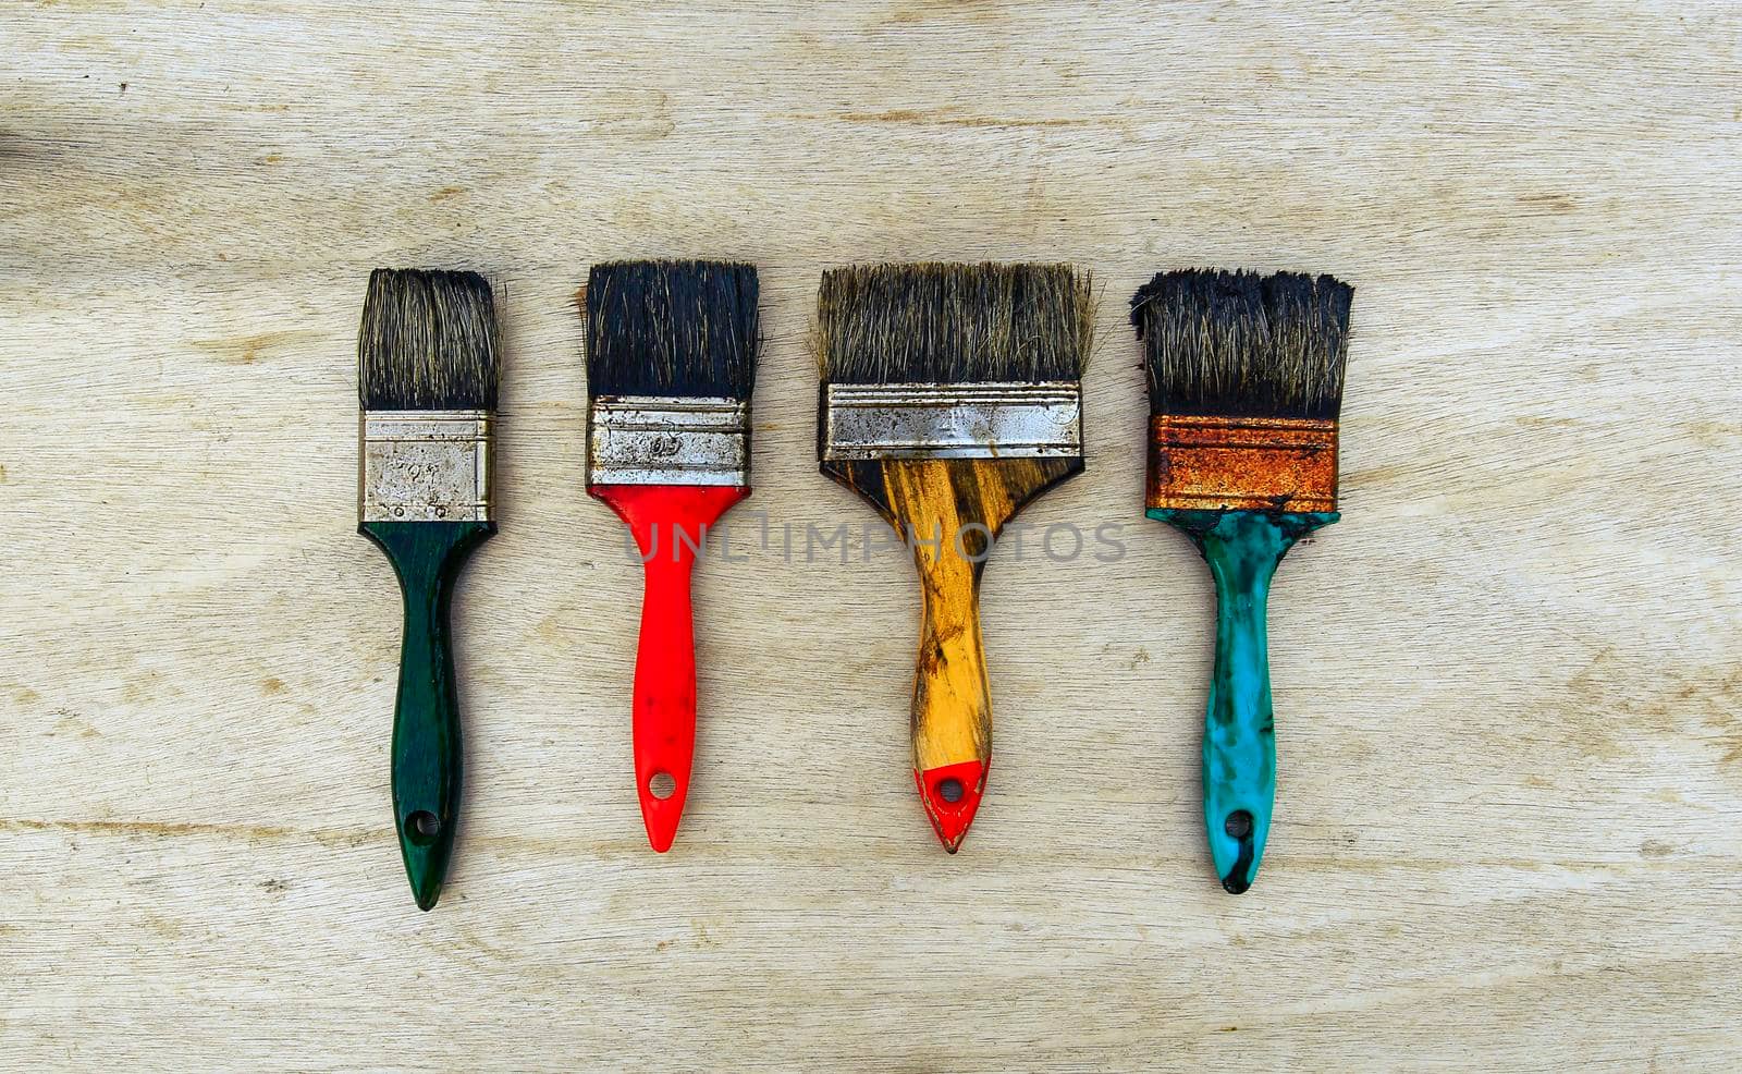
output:
[[[587,410],[587,485],[749,485],[744,399],[599,396]]]

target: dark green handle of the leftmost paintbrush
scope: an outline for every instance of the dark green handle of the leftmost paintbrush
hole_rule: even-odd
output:
[[[394,830],[418,908],[441,898],[460,814],[460,701],[448,612],[467,556],[493,521],[368,521],[357,527],[399,575],[406,631],[394,703]]]

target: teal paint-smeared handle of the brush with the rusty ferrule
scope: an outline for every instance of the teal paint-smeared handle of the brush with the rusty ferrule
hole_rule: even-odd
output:
[[[1150,511],[1192,537],[1216,579],[1216,668],[1204,713],[1204,823],[1221,886],[1258,877],[1277,793],[1265,608],[1277,563],[1334,511]]]

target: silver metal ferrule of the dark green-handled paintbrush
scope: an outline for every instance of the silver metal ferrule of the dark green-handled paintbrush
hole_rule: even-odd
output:
[[[490,521],[488,410],[364,410],[362,521]]]

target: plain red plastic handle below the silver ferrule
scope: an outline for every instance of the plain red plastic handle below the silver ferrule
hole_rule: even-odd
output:
[[[751,490],[742,485],[594,485],[587,492],[629,525],[646,572],[632,708],[636,793],[648,842],[664,854],[678,835],[695,757],[690,570],[706,528]],[[655,793],[664,790],[655,786],[660,776],[672,781],[664,797]]]

